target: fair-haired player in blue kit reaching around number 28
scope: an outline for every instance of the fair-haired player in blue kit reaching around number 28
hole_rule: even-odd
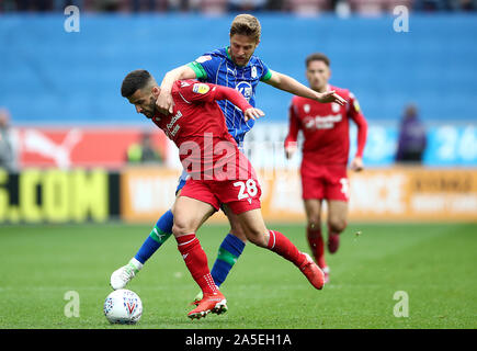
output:
[[[255,88],[259,81],[295,95],[313,99],[319,102],[336,102],[344,104],[345,101],[334,91],[316,92],[286,75],[273,71],[257,56],[253,55],[260,43],[261,26],[257,18],[250,14],[237,15],[230,27],[230,45],[206,53],[194,61],[167,72],[160,86],[161,92],[157,100],[158,110],[162,113],[172,113],[171,88],[179,79],[198,79],[204,82],[220,84],[238,90],[248,101],[255,105]],[[226,116],[228,132],[237,141],[239,148],[243,145],[243,137],[253,126],[254,121],[245,121],[243,113],[227,100],[217,101]],[[182,172],[177,193],[185,184],[188,173]],[[229,234],[223,240],[218,256],[211,271],[217,286],[225,281],[232,265],[243,251],[247,239],[237,216],[224,210],[229,223]],[[124,288],[137,274],[146,261],[171,236],[173,215],[169,210],[156,223],[149,236],[130,261],[117,269],[111,275],[111,286],[114,290]],[[196,297],[200,301],[201,297]],[[227,310],[216,312],[220,314]]]

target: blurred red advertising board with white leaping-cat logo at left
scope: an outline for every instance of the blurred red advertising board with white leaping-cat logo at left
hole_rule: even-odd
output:
[[[117,169],[127,161],[127,149],[139,143],[141,128],[18,128],[16,149],[20,168],[103,167]],[[167,155],[163,133],[148,134],[162,158]]]

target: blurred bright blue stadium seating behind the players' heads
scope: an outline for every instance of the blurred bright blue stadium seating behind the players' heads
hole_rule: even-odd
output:
[[[160,80],[178,65],[228,44],[232,16],[84,14],[80,32],[66,16],[0,16],[0,106],[16,124],[144,123],[120,94],[136,68]],[[260,16],[257,54],[271,69],[306,83],[304,60],[323,52],[331,83],[350,88],[365,115],[397,121],[416,102],[428,122],[477,121],[477,16],[411,14],[408,33],[393,16],[340,20]],[[262,84],[259,106],[274,122],[287,118],[291,95]]]

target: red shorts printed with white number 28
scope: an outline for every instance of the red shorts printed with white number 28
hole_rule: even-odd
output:
[[[215,210],[226,204],[239,215],[247,211],[260,208],[262,190],[255,179],[248,180],[194,180],[188,179],[181,190],[181,196],[192,197],[207,204]]]

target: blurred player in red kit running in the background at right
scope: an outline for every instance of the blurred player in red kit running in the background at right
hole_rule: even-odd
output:
[[[352,92],[330,86],[330,60],[323,54],[306,58],[306,77],[309,87],[318,92],[334,90],[348,101],[345,105],[323,104],[294,97],[289,107],[289,131],[285,139],[286,158],[296,150],[298,132],[304,135],[302,196],[307,216],[307,239],[315,261],[329,280],[329,267],[325,260],[321,235],[322,201],[328,206],[328,250],[334,253],[339,247],[339,234],[347,227],[349,181],[347,176],[350,152],[350,120],[357,126],[357,150],[351,169],[363,169],[363,150],[366,143],[367,123]]]

